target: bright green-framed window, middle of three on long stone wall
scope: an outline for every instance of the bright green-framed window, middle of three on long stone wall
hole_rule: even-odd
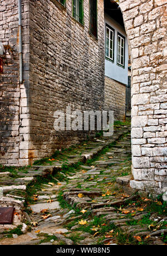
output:
[[[73,0],[73,17],[80,22],[84,23],[84,6],[83,0]]]

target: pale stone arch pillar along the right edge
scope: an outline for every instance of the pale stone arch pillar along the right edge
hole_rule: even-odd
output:
[[[131,49],[130,186],[167,189],[166,0],[120,0]]]

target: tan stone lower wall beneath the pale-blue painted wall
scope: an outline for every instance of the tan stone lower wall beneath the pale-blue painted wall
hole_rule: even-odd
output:
[[[114,111],[114,119],[125,121],[125,90],[124,84],[105,76],[106,110]]]

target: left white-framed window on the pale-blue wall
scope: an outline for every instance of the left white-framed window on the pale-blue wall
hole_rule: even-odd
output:
[[[105,56],[114,61],[114,29],[106,24]]]

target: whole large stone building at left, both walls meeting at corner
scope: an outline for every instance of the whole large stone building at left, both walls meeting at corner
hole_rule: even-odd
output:
[[[18,77],[18,1],[0,3],[0,164],[26,165],[87,138],[87,132],[55,131],[54,112],[104,107],[104,1],[97,1],[97,38],[72,0],[22,0],[23,83]]]

